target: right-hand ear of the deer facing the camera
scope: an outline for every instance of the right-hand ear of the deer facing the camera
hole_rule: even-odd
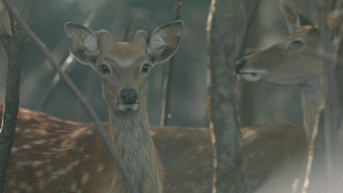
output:
[[[184,23],[175,21],[155,29],[147,41],[152,65],[162,63],[175,54],[180,45]]]

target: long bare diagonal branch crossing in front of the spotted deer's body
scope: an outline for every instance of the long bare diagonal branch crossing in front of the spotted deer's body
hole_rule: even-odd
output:
[[[37,48],[42,52],[42,54],[49,60],[49,62],[54,67],[54,69],[61,76],[62,80],[66,83],[70,91],[77,97],[77,99],[79,100],[83,108],[85,109],[88,116],[92,119],[92,121],[94,121],[94,124],[96,125],[99,131],[99,134],[103,142],[105,143],[106,149],[110,153],[111,157],[115,160],[116,166],[118,167],[118,169],[124,175],[124,178],[129,184],[129,188],[131,192],[138,193],[137,187],[135,186],[135,184],[132,181],[132,178],[130,177],[126,169],[124,168],[120,158],[118,157],[118,154],[113,149],[111,142],[109,138],[107,137],[107,134],[100,123],[99,117],[96,115],[94,109],[88,103],[88,100],[81,94],[81,92],[76,87],[76,85],[72,82],[72,80],[59,68],[59,65],[52,57],[50,51],[44,46],[43,42],[36,36],[35,33],[33,33],[33,31],[28,27],[28,25],[23,20],[21,20],[15,8],[7,0],[3,0],[3,2],[6,8],[9,10],[9,13],[15,18],[18,25],[22,28],[23,32],[28,35],[31,41],[37,46]]]

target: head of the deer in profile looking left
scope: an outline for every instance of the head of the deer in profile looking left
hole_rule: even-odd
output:
[[[242,58],[236,73],[247,81],[307,85],[320,76],[319,30],[294,8],[280,1],[290,35],[270,48]]]

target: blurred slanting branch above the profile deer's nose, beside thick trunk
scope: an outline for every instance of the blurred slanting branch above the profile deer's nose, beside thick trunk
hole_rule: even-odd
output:
[[[241,37],[241,43],[238,45],[236,60],[242,58],[244,55],[245,48],[246,48],[247,43],[249,41],[250,29],[252,27],[252,23],[253,23],[254,19],[256,18],[256,14],[257,14],[259,4],[260,4],[260,0],[254,0],[252,5],[251,5],[251,10],[249,12],[248,18],[245,22],[245,27],[243,29],[243,35]]]

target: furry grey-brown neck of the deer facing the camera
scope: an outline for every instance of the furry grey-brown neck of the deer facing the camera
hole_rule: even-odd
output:
[[[135,111],[109,109],[113,147],[131,174],[139,192],[161,192],[160,165],[149,133],[145,106]],[[119,171],[113,173],[114,192],[130,192]]]

